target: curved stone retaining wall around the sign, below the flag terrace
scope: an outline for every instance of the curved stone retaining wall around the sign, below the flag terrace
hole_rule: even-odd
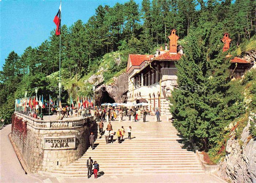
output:
[[[35,127],[19,115],[12,116],[12,135],[19,153],[30,172],[53,170],[79,159],[89,147],[92,118],[82,126],[42,128]],[[61,122],[60,122],[61,123]],[[75,136],[73,149],[45,149],[45,137]],[[59,144],[60,145],[60,144]]]

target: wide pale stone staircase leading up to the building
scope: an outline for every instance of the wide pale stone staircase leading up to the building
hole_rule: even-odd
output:
[[[126,133],[121,144],[117,136],[113,144],[106,144],[105,137],[98,135],[95,149],[89,148],[79,160],[49,173],[51,176],[86,177],[89,156],[97,160],[99,172],[104,172],[104,176],[204,173],[191,144],[170,122],[154,122],[154,116],[147,118],[146,123],[130,122],[127,117],[122,122],[111,122],[115,132],[121,126],[125,130],[132,126],[132,139],[128,139]],[[94,133],[97,132],[98,126],[95,126]]]

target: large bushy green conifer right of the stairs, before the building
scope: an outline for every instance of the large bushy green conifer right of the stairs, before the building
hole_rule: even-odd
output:
[[[218,42],[222,31],[212,26],[190,31],[185,56],[176,63],[179,89],[171,100],[174,125],[205,150],[223,139],[223,129],[242,112],[242,96],[230,83],[230,60]]]

